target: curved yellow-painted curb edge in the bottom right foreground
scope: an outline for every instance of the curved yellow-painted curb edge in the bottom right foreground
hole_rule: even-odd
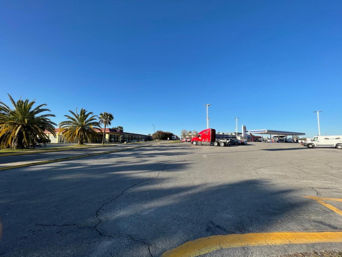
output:
[[[192,257],[222,248],[257,245],[341,243],[342,232],[271,232],[215,235],[186,242],[163,253],[162,257]]]

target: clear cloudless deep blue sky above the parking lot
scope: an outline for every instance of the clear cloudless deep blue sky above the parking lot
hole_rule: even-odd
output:
[[[0,2],[0,99],[127,132],[342,134],[342,1]]]

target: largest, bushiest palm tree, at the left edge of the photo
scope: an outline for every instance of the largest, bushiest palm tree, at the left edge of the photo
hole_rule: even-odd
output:
[[[10,147],[11,149],[23,149],[32,145],[35,147],[37,138],[42,139],[44,145],[49,138],[44,133],[49,131],[54,136],[56,123],[52,122],[49,117],[55,117],[54,114],[40,114],[49,111],[46,103],[33,107],[35,100],[25,101],[19,99],[14,101],[8,95],[13,109],[0,101],[0,148]]]

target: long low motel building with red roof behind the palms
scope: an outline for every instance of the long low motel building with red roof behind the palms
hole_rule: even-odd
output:
[[[103,128],[100,130],[97,129],[98,132],[98,138],[93,139],[92,143],[102,143],[102,137],[103,137]],[[77,143],[77,140],[75,142],[64,142],[63,138],[63,131],[61,129],[56,128],[56,137],[54,137],[49,131],[45,130],[44,133],[47,134],[48,138],[51,140],[51,143],[53,144],[64,144],[64,143]],[[128,133],[123,132],[117,129],[109,129],[106,128],[105,131],[105,142],[104,143],[124,143],[124,142],[131,142],[132,140],[136,141],[151,141],[152,136],[149,135],[142,135],[142,134],[135,134],[135,133]],[[88,143],[88,142],[84,142]]]

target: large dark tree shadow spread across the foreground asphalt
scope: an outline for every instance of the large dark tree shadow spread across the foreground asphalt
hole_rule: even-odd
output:
[[[295,217],[307,201],[293,190],[230,181],[228,171],[220,184],[198,184],[187,162],[149,162],[191,150],[149,151],[121,156],[134,155],[130,161],[101,156],[1,173],[0,254],[159,256],[210,235],[303,229]]]

